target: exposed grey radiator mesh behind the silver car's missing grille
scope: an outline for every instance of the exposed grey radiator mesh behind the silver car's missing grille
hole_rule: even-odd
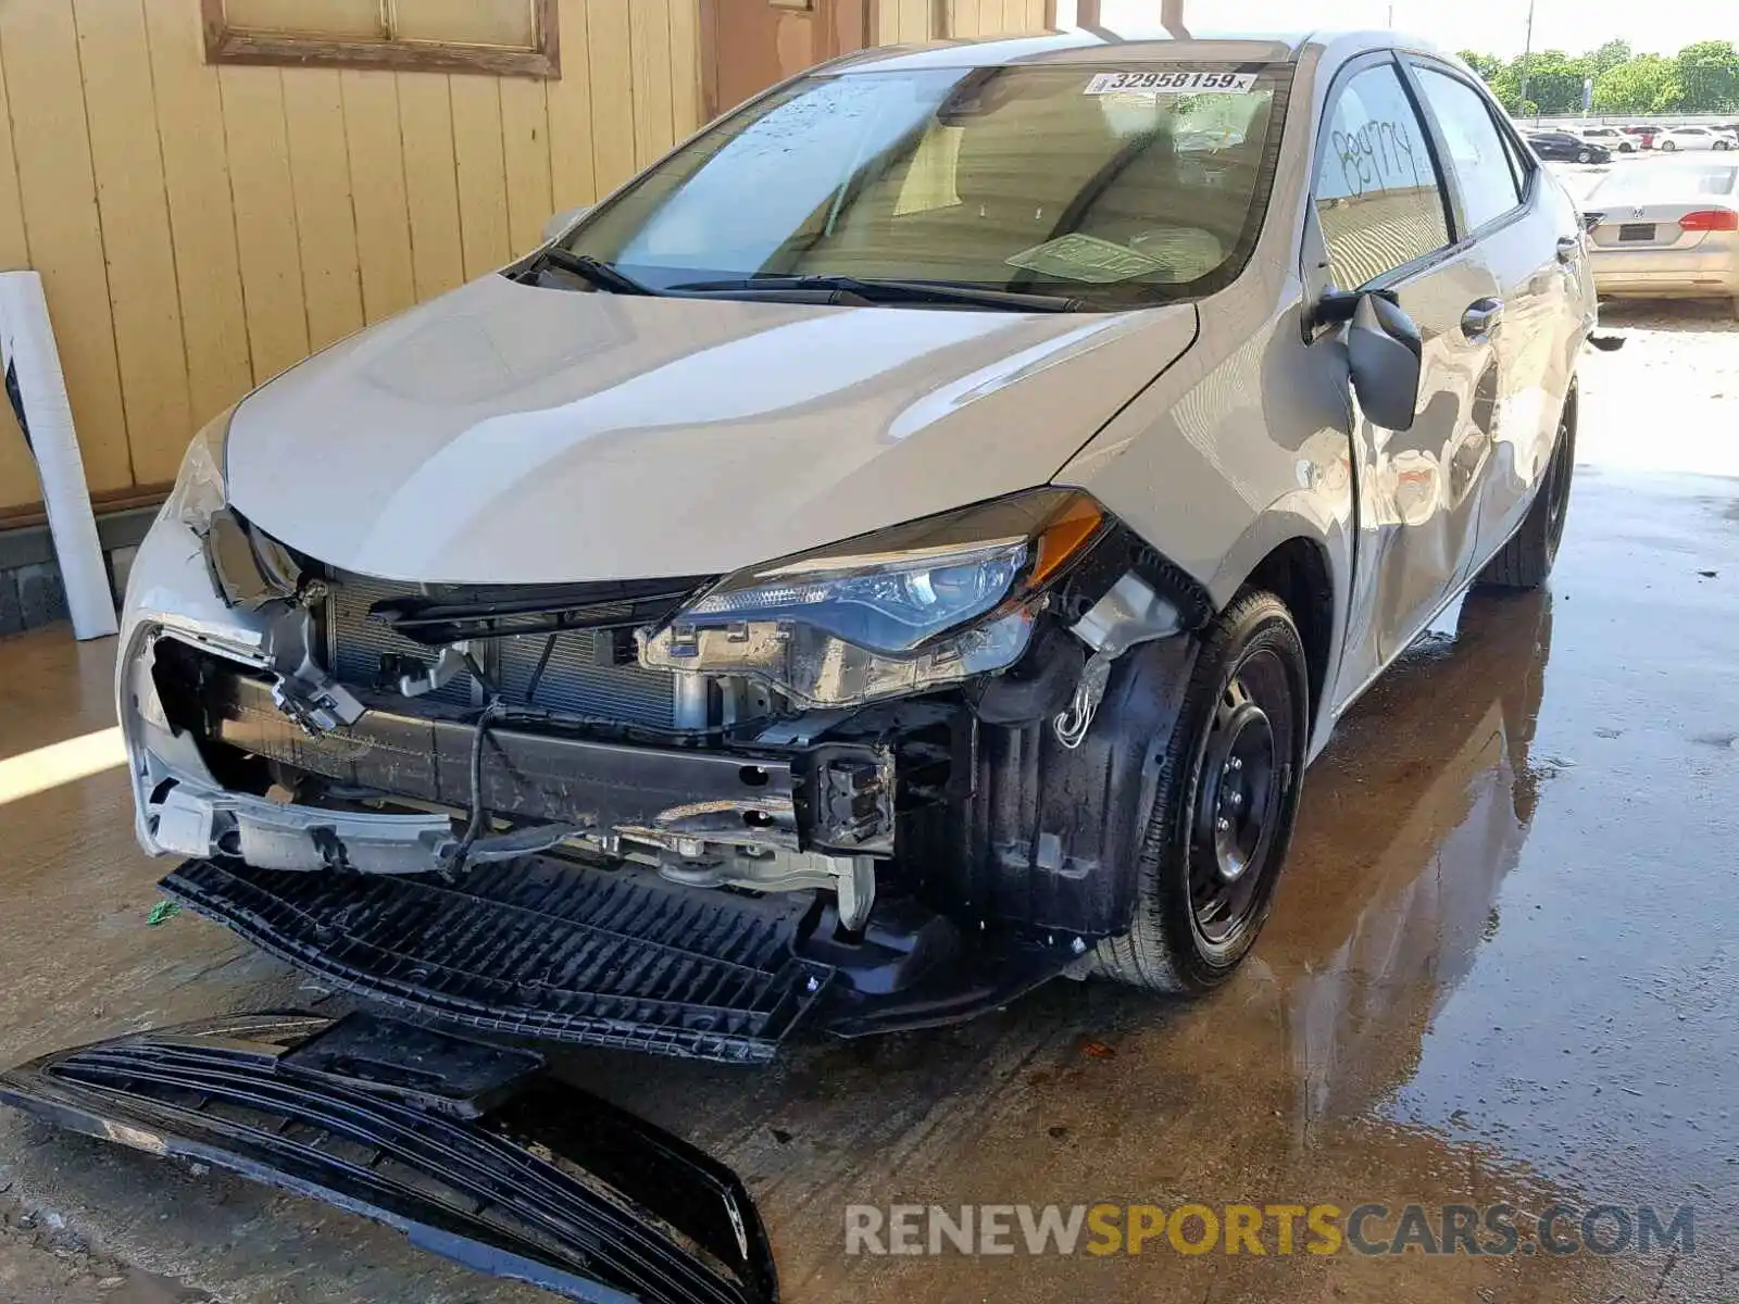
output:
[[[433,662],[433,649],[395,633],[384,621],[369,619],[369,609],[376,603],[421,593],[416,584],[341,574],[332,577],[330,589],[325,610],[327,649],[332,673],[339,680],[376,687],[384,655]],[[511,635],[489,643],[497,659],[494,673],[501,694],[511,706],[541,706],[668,729],[675,718],[671,675],[638,664],[610,664],[609,645],[610,635],[596,629]],[[471,687],[471,676],[459,675],[428,694],[428,701],[470,706]]]

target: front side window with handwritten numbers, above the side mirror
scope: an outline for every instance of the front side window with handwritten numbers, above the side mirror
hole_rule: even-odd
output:
[[[1376,64],[1341,85],[1320,151],[1316,217],[1343,290],[1449,243],[1426,130],[1393,64]]]

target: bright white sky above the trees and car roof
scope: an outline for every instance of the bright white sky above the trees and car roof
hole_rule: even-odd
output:
[[[1069,0],[1057,5],[1068,21]],[[1103,0],[1104,23],[1156,24],[1158,0]],[[1393,23],[1389,14],[1393,10]],[[1396,26],[1449,50],[1520,54],[1529,0],[1184,0],[1184,21],[1207,30],[1308,31]],[[1694,40],[1739,43],[1739,0],[1534,0],[1534,49],[1581,54],[1622,38],[1636,50],[1676,54]]]

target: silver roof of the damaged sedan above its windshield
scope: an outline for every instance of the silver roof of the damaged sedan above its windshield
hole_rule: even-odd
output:
[[[930,45],[883,45],[831,64],[857,68],[996,68],[1007,64],[1129,63],[1294,63],[1308,49],[1410,49],[1435,52],[1428,40],[1398,31],[1193,31],[1165,28],[1076,28],[1043,37],[949,40]]]

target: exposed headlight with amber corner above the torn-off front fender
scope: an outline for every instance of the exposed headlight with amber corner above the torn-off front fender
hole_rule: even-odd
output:
[[[856,706],[1019,661],[1047,586],[1108,527],[1069,489],[896,525],[739,570],[661,629],[640,659],[751,675],[807,706]]]

